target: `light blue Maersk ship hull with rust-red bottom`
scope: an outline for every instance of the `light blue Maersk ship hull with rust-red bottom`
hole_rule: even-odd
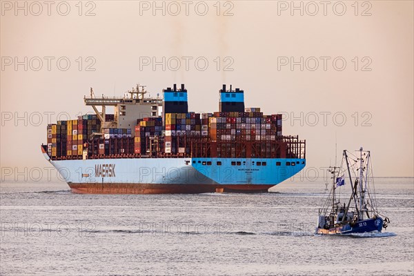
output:
[[[51,160],[74,193],[266,192],[305,159],[119,158]]]

